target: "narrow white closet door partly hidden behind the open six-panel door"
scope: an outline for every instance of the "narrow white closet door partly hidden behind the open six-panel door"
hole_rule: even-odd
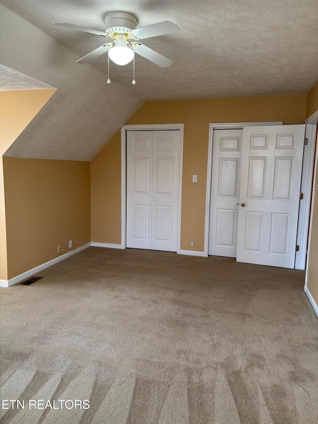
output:
[[[237,256],[243,130],[214,130],[209,254]]]

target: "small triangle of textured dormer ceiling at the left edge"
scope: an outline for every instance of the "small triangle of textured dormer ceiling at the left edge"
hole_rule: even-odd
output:
[[[37,90],[40,88],[54,87],[0,65],[0,91]]]

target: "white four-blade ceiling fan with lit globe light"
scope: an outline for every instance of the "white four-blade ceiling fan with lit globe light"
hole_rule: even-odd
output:
[[[138,40],[159,35],[172,34],[179,32],[175,23],[168,20],[154,23],[152,25],[136,28],[137,18],[128,12],[109,12],[105,17],[105,32],[89,29],[78,25],[65,22],[54,22],[54,25],[65,28],[77,29],[78,31],[90,32],[92,34],[106,37],[106,44],[98,47],[86,56],[82,57],[77,63],[89,63],[104,53],[108,52],[109,59],[117,65],[127,65],[134,58],[134,53],[143,56],[151,62],[159,65],[161,68],[170,66],[173,62],[162,56],[155,50],[139,43]]]

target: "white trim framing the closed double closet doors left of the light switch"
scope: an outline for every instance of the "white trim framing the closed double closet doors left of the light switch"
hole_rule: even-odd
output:
[[[180,131],[180,163],[179,163],[179,196],[178,196],[178,224],[177,224],[177,254],[181,249],[181,201],[182,201],[182,167],[183,167],[183,128],[184,124],[147,124],[147,125],[124,125],[120,130],[121,148],[121,249],[126,249],[126,143],[127,131],[156,131],[156,130],[179,130]]]

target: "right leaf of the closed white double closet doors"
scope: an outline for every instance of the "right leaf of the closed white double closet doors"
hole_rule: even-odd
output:
[[[179,201],[180,131],[154,131],[153,250],[176,252]]]

